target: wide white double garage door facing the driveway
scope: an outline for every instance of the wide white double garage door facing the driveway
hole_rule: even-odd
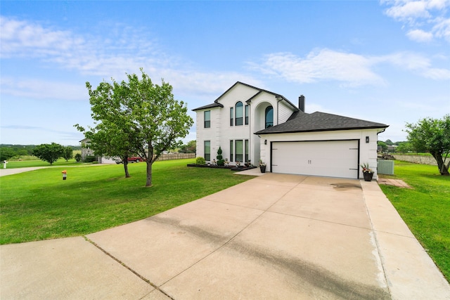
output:
[[[272,172],[358,178],[358,141],[272,143]]]

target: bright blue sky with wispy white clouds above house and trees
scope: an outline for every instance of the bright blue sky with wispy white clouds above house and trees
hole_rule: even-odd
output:
[[[307,112],[389,124],[450,113],[450,0],[1,1],[0,143],[78,145],[86,81],[139,68],[191,110],[236,81]],[[195,140],[195,126],[185,141]]]

